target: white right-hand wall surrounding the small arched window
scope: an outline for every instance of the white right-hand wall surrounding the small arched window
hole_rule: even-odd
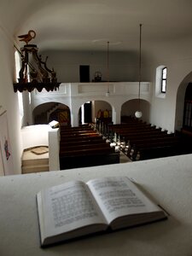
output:
[[[150,122],[168,131],[175,131],[181,128],[183,114],[176,108],[182,108],[183,102],[177,102],[177,90],[183,79],[192,71],[192,38],[180,38],[168,44],[155,45],[151,48],[154,60],[148,63],[148,71],[151,73],[153,84],[153,97]],[[166,97],[155,96],[155,72],[156,67],[165,65],[167,67],[167,90]],[[189,82],[189,79],[188,79]],[[183,87],[182,92],[185,94]],[[182,109],[183,113],[183,109]]]

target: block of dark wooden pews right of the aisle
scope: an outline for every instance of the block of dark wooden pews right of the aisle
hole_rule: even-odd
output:
[[[108,130],[115,132],[125,141],[128,149],[125,154],[131,160],[148,160],[178,154],[192,153],[191,139],[176,133],[168,134],[161,128],[147,124],[141,119],[128,117],[126,123],[109,125]]]

